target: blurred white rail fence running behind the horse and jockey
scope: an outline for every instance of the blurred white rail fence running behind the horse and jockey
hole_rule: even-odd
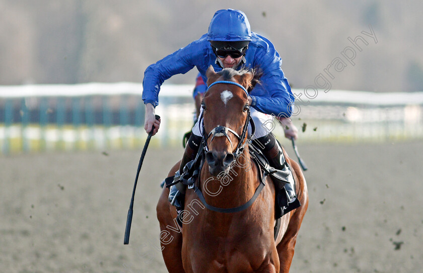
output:
[[[181,146],[192,126],[192,88],[162,86],[156,108],[161,130],[152,145]],[[142,84],[128,82],[0,86],[0,151],[142,147],[141,94]],[[423,92],[329,90],[301,99],[301,112],[292,117],[299,142],[423,139]],[[283,137],[280,126],[274,132]]]

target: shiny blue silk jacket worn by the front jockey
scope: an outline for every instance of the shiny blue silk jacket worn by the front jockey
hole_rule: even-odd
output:
[[[257,84],[250,92],[252,107],[265,114],[289,117],[294,107],[294,96],[284,72],[280,68],[282,59],[273,44],[254,32],[245,53],[244,66],[260,67],[263,75],[261,84]],[[215,71],[222,70],[216,62],[207,34],[190,43],[162,60],[147,67],[143,80],[144,103],[153,106],[159,104],[158,95],[162,83],[171,76],[186,73],[194,66],[197,67],[204,82],[207,82],[205,71],[213,65]]]

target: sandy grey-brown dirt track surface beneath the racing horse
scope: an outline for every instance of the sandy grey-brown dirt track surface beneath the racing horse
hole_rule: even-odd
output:
[[[423,272],[423,142],[299,149],[310,205],[291,272]],[[155,208],[182,152],[147,152],[129,245],[140,150],[0,156],[0,272],[166,272]]]

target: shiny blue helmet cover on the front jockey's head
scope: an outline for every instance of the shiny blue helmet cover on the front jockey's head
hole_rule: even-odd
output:
[[[208,26],[207,41],[251,41],[247,16],[233,9],[217,11]]]

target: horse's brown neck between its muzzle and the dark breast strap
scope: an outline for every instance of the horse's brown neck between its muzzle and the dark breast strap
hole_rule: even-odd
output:
[[[232,208],[243,205],[254,194],[259,181],[257,168],[248,147],[235,159],[228,173],[212,176],[205,163],[202,169],[201,191],[209,205]]]

